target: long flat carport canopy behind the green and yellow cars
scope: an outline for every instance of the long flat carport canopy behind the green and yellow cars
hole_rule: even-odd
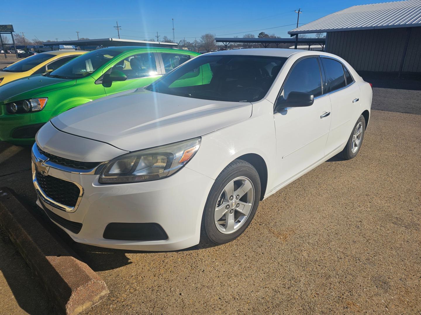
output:
[[[113,46],[152,46],[152,47],[175,47],[176,43],[164,43],[164,42],[148,42],[146,40],[134,40],[134,39],[120,39],[120,38],[100,38],[100,39],[82,39],[82,40],[64,40],[61,42],[44,42],[44,46],[55,46],[55,45],[75,45],[75,46],[101,46],[101,47],[113,47]]]

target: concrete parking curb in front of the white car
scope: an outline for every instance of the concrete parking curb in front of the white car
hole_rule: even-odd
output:
[[[79,314],[109,293],[105,282],[5,187],[0,187],[0,224],[63,314]]]

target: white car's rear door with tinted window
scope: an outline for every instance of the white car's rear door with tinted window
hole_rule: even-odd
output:
[[[339,60],[328,57],[322,57],[321,60],[332,105],[332,121],[325,152],[328,155],[349,139],[356,123],[355,109],[360,105],[360,87]]]

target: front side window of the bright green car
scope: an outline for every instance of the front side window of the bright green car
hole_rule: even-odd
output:
[[[157,66],[153,53],[131,55],[112,67],[111,71],[123,72],[127,79],[138,79],[146,76],[156,76]]]

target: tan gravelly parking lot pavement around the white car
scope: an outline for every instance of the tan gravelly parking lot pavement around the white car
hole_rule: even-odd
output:
[[[412,93],[420,89],[416,81],[414,89],[373,83],[377,110],[360,154],[334,157],[261,202],[249,228],[229,244],[131,252],[62,234],[110,291],[86,314],[419,313],[421,115]],[[0,143],[1,186],[40,213],[29,163],[28,148]],[[7,239],[0,242],[11,252]],[[15,263],[17,255],[0,264],[0,313],[45,314],[36,279],[13,276],[16,268],[30,274]]]

